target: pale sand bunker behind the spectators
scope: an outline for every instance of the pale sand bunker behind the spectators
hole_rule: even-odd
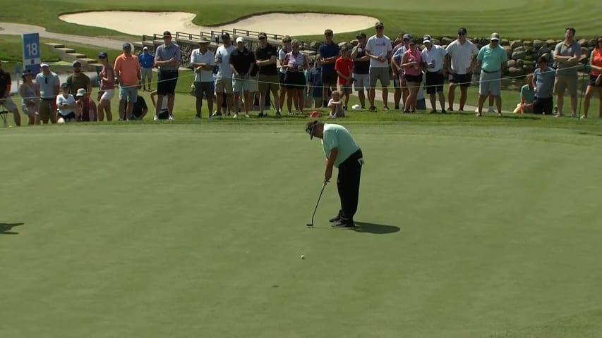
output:
[[[331,29],[335,35],[340,32],[354,32],[374,27],[376,18],[362,15],[339,15],[323,13],[271,13],[252,16],[227,25],[203,27],[192,23],[195,14],[185,12],[137,12],[137,11],[95,11],[72,13],[59,16],[68,23],[92,27],[103,27],[130,35],[162,34],[164,30],[198,34],[212,30],[251,30],[277,35],[322,35]],[[370,34],[371,31],[366,32]]]

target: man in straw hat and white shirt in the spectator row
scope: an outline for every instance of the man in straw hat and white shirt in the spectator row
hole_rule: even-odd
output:
[[[213,87],[213,68],[215,68],[215,55],[207,47],[211,42],[206,37],[198,40],[198,49],[191,53],[191,65],[194,68],[194,95],[196,97],[196,116],[200,118],[203,108],[203,98],[207,99],[207,108],[210,116],[213,111],[215,89]]]

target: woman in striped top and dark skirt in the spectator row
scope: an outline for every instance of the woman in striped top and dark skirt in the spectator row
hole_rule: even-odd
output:
[[[303,113],[303,106],[305,104],[303,92],[306,86],[305,75],[303,71],[307,69],[307,60],[303,53],[299,51],[299,41],[291,41],[292,51],[284,56],[284,65],[282,68],[287,70],[287,75],[284,75],[284,87],[287,88],[287,108],[289,108],[289,115],[292,115],[291,108],[293,100],[295,106],[299,107],[299,111]]]

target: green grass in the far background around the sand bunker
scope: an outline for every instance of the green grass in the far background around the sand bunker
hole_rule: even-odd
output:
[[[194,22],[198,25],[217,25],[228,23],[240,18],[242,15],[253,13],[265,13],[269,11],[319,11],[325,13],[351,13],[370,14],[382,20],[386,25],[385,33],[391,37],[397,36],[399,32],[411,32],[416,36],[431,34],[439,36],[456,35],[458,27],[464,26],[468,29],[470,36],[487,37],[491,32],[499,32],[507,39],[561,39],[565,27],[574,26],[577,29],[577,37],[594,38],[599,35],[598,20],[596,15],[583,15],[591,13],[592,9],[600,6],[598,1],[546,1],[536,0],[529,3],[531,10],[526,10],[526,3],[520,0],[509,0],[484,5],[482,1],[468,0],[462,3],[462,9],[450,1],[435,1],[428,4],[421,2],[404,4],[404,8],[395,10],[396,1],[379,1],[370,4],[371,11],[366,11],[366,2],[361,0],[344,1],[336,5],[325,5],[323,1],[311,0],[303,5],[282,4],[273,0],[248,3],[246,1],[227,1],[227,11],[224,11],[223,1],[205,1],[203,9],[196,8],[197,3],[192,0],[171,1],[169,8],[163,4],[149,4],[148,1],[133,0],[124,4],[118,0],[103,1],[102,4],[90,1],[4,1],[4,11],[0,13],[0,20],[14,21],[19,23],[31,23],[31,14],[37,13],[36,22],[43,23],[52,32],[77,33],[78,35],[90,35],[101,37],[114,37],[116,39],[133,39],[128,35],[114,30],[96,27],[84,27],[65,23],[58,19],[61,13],[72,13],[78,11],[106,11],[107,9],[140,11],[191,11],[198,13]],[[570,5],[570,6],[569,6]],[[40,11],[44,8],[44,11]],[[535,8],[541,8],[535,15]],[[211,13],[206,15],[206,13]],[[403,20],[399,20],[403,18]],[[526,23],[528,23],[526,29]],[[244,27],[240,27],[243,29]],[[156,32],[164,30],[157,25]],[[372,32],[372,27],[366,27]],[[272,32],[278,33],[278,32]],[[357,32],[335,32],[335,39],[353,39]],[[320,36],[308,37],[299,32],[301,39],[311,41],[322,39]],[[140,38],[140,37],[137,37]]]

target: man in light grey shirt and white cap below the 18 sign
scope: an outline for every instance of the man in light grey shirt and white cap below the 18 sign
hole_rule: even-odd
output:
[[[61,82],[59,75],[50,71],[48,63],[40,65],[42,72],[35,76],[35,88],[40,93],[40,121],[44,124],[56,123],[56,96],[59,95]]]

